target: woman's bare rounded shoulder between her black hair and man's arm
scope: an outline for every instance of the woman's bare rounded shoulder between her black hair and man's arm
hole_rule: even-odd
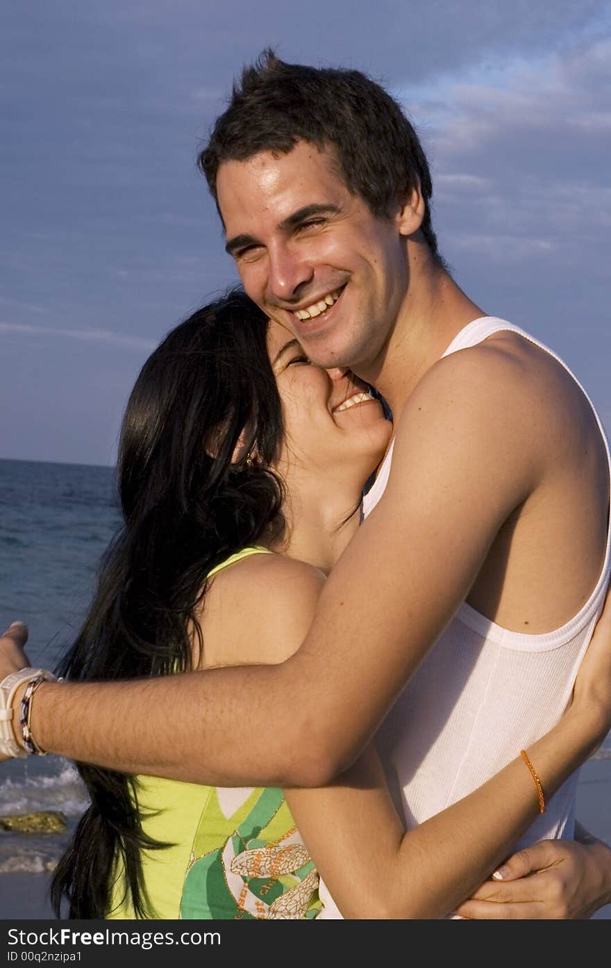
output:
[[[249,555],[210,581],[201,617],[204,664],[283,662],[306,637],[325,576],[285,555]]]

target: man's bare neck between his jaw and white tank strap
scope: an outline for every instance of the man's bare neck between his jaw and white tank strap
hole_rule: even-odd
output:
[[[410,282],[389,341],[370,372],[359,377],[376,387],[398,419],[424,374],[469,322],[485,313],[454,283],[428,246],[407,246]]]

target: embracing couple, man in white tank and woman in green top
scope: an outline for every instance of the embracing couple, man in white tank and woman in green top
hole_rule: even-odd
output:
[[[5,753],[72,758],[91,796],[57,910],[589,916],[611,899],[574,818],[611,727],[592,405],[452,280],[418,137],[364,75],[266,52],[199,161],[246,294],[136,381],[66,681],[24,668],[22,625],[1,640]]]

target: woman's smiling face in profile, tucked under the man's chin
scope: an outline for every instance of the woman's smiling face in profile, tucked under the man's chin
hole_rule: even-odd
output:
[[[316,474],[322,487],[358,495],[380,463],[393,425],[364,384],[342,370],[322,370],[309,362],[293,335],[270,320],[268,349],[284,417],[278,465]],[[333,482],[333,484],[332,484]]]

